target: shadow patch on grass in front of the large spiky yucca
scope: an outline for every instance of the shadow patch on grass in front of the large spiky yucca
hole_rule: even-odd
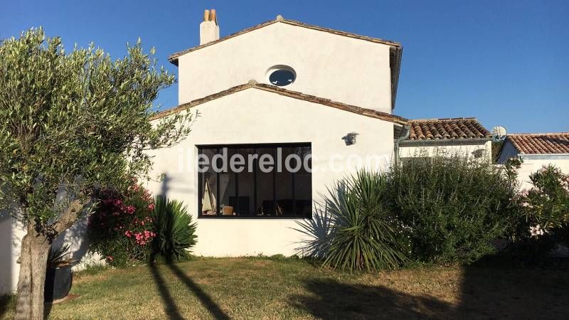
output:
[[[335,279],[307,279],[309,295],[297,295],[289,304],[320,319],[448,318],[454,309],[433,297],[397,292],[383,286],[344,284]]]

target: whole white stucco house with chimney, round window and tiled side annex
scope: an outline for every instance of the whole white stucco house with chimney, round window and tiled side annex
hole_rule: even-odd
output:
[[[188,206],[197,255],[292,255],[306,237],[300,225],[339,179],[422,147],[474,156],[489,149],[489,133],[474,119],[408,123],[393,114],[403,49],[394,41],[282,16],[219,38],[208,13],[200,43],[169,57],[179,68],[179,106],[153,122],[173,112],[199,116],[180,144],[149,151],[148,184]],[[240,156],[243,164],[223,168]],[[6,216],[0,230],[9,238],[1,242],[0,292],[10,292],[23,231]],[[84,233],[85,221],[59,240],[88,263]]]

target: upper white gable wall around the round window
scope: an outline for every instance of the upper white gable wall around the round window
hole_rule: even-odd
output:
[[[389,46],[273,23],[179,57],[179,104],[249,80],[267,83],[267,69],[289,65],[288,90],[391,113]]]

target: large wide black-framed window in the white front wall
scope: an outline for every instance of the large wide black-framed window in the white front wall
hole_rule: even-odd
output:
[[[198,146],[198,217],[312,218],[311,152],[310,143]]]

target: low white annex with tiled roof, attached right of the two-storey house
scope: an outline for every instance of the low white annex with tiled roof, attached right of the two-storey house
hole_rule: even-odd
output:
[[[410,120],[408,127],[408,137],[399,142],[401,161],[456,154],[491,161],[491,134],[476,118]],[[404,134],[405,130],[395,133]]]

